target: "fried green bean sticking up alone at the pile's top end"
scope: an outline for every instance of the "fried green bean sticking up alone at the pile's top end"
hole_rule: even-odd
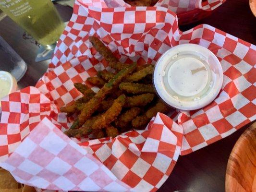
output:
[[[109,48],[107,48],[97,37],[90,36],[89,41],[93,47],[102,55],[108,62],[117,62],[117,58],[113,55]]]

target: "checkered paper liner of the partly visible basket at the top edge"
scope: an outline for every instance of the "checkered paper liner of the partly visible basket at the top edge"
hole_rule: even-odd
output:
[[[182,13],[188,12],[194,9],[201,9],[205,11],[212,11],[219,7],[226,0],[159,0],[154,7],[165,7],[172,12]],[[84,1],[87,5],[93,7],[131,7],[130,4],[123,0],[86,0]]]

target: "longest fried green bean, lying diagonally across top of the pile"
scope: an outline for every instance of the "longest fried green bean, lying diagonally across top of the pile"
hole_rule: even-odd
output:
[[[113,87],[120,84],[120,82],[131,72],[134,71],[136,65],[132,64],[128,68],[125,68],[114,75],[112,79],[98,91],[98,93],[91,98],[81,111],[78,116],[79,125],[83,125],[86,120],[88,120],[91,115],[99,108],[100,103],[105,99],[105,97],[111,92]]]

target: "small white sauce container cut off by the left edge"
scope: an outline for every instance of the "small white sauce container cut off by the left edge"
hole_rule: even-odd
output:
[[[1,91],[1,89],[3,89],[3,87],[4,87],[4,89],[7,89],[7,90],[5,90],[6,94],[4,94],[4,96],[7,96],[17,90],[17,81],[12,76],[11,73],[5,72],[5,71],[0,71],[0,91]],[[1,98],[0,98],[0,101],[1,101]],[[0,102],[0,107],[1,107],[1,102]]]

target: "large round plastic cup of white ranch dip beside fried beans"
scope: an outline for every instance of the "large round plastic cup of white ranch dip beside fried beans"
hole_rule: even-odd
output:
[[[153,84],[169,106],[183,110],[203,108],[219,94],[223,71],[207,48],[182,44],[166,51],[157,61]]]

